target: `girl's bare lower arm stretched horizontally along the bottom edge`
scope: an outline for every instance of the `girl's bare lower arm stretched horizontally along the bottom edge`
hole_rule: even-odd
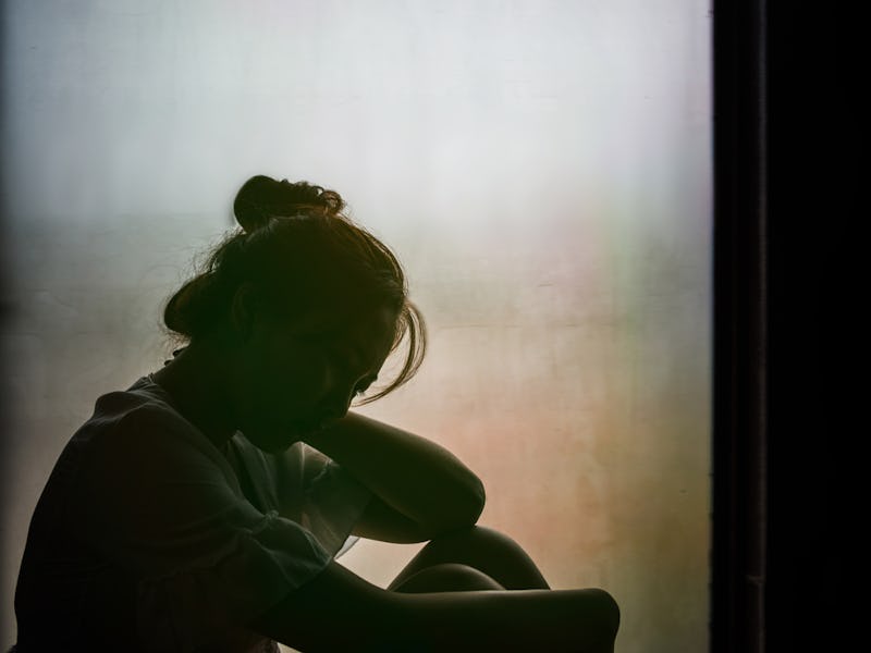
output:
[[[603,590],[401,593],[333,562],[252,627],[307,652],[610,653],[618,621]]]

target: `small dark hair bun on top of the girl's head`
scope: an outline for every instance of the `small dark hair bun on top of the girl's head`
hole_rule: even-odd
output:
[[[233,202],[236,222],[250,233],[277,215],[297,215],[317,211],[330,215],[344,207],[338,193],[308,182],[281,182],[262,174],[242,185]]]

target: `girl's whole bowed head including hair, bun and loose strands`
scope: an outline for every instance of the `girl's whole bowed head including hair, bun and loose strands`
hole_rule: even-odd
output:
[[[332,190],[252,177],[234,202],[241,229],[165,306],[181,338],[232,352],[245,389],[241,419],[260,422],[240,424],[249,439],[270,429],[300,435],[341,417],[402,343],[396,377],[360,403],[420,366],[426,331],[402,266],[343,208]]]

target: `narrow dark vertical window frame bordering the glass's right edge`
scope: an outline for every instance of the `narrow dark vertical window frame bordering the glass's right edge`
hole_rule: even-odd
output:
[[[714,0],[710,650],[764,651],[764,0]]]

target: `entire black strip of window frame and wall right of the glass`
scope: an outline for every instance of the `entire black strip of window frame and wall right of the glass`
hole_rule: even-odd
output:
[[[715,4],[712,650],[849,650],[867,514],[861,23]]]

